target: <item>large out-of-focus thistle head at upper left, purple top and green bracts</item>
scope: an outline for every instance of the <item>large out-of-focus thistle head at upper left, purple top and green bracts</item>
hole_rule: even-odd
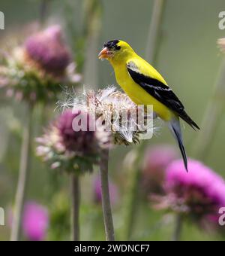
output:
[[[24,44],[5,53],[3,60],[0,87],[18,101],[55,101],[62,92],[60,84],[70,86],[81,79],[58,25],[34,32]]]

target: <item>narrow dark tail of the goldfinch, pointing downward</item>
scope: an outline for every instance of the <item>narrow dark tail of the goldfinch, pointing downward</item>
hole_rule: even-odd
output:
[[[176,141],[178,142],[178,146],[180,148],[181,155],[182,155],[183,161],[184,161],[184,167],[188,172],[187,155],[186,155],[184,144],[183,144],[183,139],[182,139],[182,134],[181,134],[181,126],[180,126],[179,120],[173,119],[171,122],[169,122],[169,129],[172,131],[172,135],[175,137]]]

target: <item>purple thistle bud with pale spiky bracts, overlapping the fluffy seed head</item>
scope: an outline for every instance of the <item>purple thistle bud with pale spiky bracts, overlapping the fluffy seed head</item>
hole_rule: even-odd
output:
[[[110,147],[110,133],[97,126],[86,111],[67,110],[37,142],[37,155],[50,163],[52,169],[84,172],[92,171],[101,150]]]

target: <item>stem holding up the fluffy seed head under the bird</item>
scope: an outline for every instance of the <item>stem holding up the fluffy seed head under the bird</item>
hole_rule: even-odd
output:
[[[109,151],[103,151],[101,155],[100,173],[101,173],[101,193],[102,208],[104,212],[104,224],[107,241],[114,241],[113,215],[110,203],[110,188],[108,177]]]

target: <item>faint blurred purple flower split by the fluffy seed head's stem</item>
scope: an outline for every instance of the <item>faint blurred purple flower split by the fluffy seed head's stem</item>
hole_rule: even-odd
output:
[[[112,205],[118,202],[118,187],[110,181],[110,201]],[[101,203],[101,178],[98,176],[94,180],[94,200],[95,203]]]

